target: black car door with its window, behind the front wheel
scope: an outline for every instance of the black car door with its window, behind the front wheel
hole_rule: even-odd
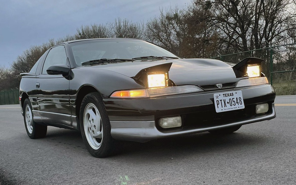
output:
[[[49,50],[40,74],[37,75],[36,94],[41,120],[45,123],[72,126],[69,96],[69,79],[62,75],[49,75],[49,66],[66,64],[65,45],[58,45]]]

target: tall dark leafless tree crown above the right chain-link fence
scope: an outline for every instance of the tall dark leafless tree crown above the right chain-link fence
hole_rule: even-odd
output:
[[[196,1],[197,3],[198,1]],[[295,29],[294,0],[215,0],[210,4],[208,21],[220,33],[224,52],[247,51],[281,44]]]

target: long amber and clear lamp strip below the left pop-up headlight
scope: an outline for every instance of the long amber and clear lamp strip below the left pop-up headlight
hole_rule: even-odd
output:
[[[185,94],[203,91],[201,88],[194,85],[172,86],[172,87],[157,87],[149,89],[133,89],[124,91],[115,91],[111,94],[111,98],[144,98],[165,96],[172,94]]]

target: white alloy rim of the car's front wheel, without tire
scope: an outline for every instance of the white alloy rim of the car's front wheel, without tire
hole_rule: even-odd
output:
[[[103,141],[103,127],[99,110],[93,103],[86,105],[83,113],[83,126],[89,145],[97,150]]]

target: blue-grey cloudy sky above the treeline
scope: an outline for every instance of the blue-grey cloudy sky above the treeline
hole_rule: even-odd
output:
[[[31,45],[74,34],[81,25],[117,17],[146,22],[160,9],[191,0],[0,0],[0,66],[8,67]]]

